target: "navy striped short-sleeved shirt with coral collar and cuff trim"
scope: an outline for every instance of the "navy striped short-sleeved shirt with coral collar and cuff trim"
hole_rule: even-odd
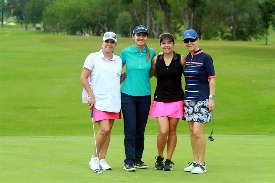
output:
[[[209,98],[209,78],[215,76],[213,60],[202,49],[186,56],[184,69],[185,94],[184,100],[199,101]]]

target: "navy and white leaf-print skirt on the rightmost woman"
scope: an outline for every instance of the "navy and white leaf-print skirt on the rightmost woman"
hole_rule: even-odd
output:
[[[199,101],[184,100],[184,117],[185,121],[209,123],[211,122],[211,113],[208,112],[208,99]]]

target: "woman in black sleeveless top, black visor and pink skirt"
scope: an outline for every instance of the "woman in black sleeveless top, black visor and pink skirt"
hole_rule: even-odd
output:
[[[173,51],[174,36],[170,33],[160,35],[162,55],[152,59],[150,77],[157,77],[154,102],[150,117],[157,118],[159,133],[157,137],[158,156],[156,170],[173,170],[172,155],[176,148],[176,128],[183,117],[184,91],[181,87],[182,73],[185,68],[185,57]],[[167,144],[167,157],[164,162],[163,151]]]

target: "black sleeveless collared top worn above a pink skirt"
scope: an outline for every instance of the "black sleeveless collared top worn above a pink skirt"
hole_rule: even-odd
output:
[[[158,55],[155,66],[158,81],[154,101],[177,102],[184,100],[184,91],[181,86],[181,55],[174,52],[169,66],[165,65],[163,55]]]

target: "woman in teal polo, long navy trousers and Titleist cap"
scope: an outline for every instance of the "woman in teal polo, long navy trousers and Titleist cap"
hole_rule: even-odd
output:
[[[156,51],[146,45],[147,27],[135,27],[132,38],[135,43],[123,49],[120,57],[126,64],[127,78],[121,88],[121,110],[124,122],[125,160],[123,169],[148,168],[142,162],[144,131],[151,105],[150,68]]]

